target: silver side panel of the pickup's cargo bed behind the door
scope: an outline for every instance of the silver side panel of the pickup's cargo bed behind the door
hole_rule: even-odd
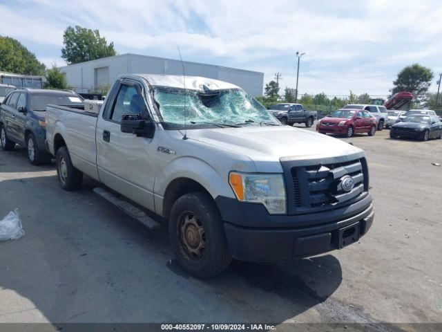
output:
[[[98,115],[84,111],[81,107],[50,104],[46,107],[46,116],[46,142],[50,153],[55,156],[55,141],[62,137],[69,147],[73,165],[81,172],[98,178],[95,147]]]

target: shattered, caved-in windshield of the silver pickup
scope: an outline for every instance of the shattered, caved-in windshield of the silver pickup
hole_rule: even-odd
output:
[[[154,86],[153,97],[164,122],[218,127],[278,125],[259,102],[240,89],[196,91]]]

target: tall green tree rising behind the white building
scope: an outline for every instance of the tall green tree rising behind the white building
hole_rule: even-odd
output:
[[[91,30],[81,26],[68,26],[63,35],[64,48],[61,48],[61,57],[68,64],[77,64],[101,57],[111,57],[117,54],[113,42],[107,44],[106,38],[99,36],[98,30]]]

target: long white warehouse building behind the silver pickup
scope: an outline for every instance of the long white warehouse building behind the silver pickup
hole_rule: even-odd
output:
[[[66,75],[68,85],[73,86],[75,91],[90,93],[111,85],[118,75],[126,73],[182,75],[182,64],[180,60],[129,53],[63,66],[60,71]],[[184,72],[189,76],[236,84],[253,97],[262,95],[264,73],[187,61],[184,61]]]

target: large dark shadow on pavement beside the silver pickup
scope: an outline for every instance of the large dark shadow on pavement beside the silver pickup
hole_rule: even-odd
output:
[[[332,255],[233,261],[219,277],[195,279],[173,259],[166,228],[149,231],[94,194],[95,185],[86,178],[79,192],[64,192],[56,176],[0,181],[0,192],[10,193],[0,214],[19,208],[26,230],[0,242],[0,302],[12,303],[5,292],[12,290],[57,323],[279,323],[324,302],[342,282]],[[32,320],[23,310],[0,308],[0,322]]]

